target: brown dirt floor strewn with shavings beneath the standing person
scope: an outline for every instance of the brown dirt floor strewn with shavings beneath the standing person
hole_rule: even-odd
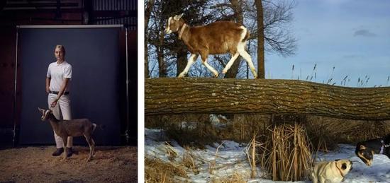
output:
[[[0,150],[0,182],[137,182],[137,147],[96,147],[87,162],[88,147],[64,159],[52,156],[55,146]]]

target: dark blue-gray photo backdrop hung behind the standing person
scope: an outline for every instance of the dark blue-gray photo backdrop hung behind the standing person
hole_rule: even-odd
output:
[[[105,145],[121,143],[119,83],[126,68],[119,68],[120,28],[20,28],[18,61],[21,64],[20,144],[55,144],[48,122],[40,121],[38,107],[48,109],[45,78],[48,66],[56,61],[55,45],[64,45],[65,60],[72,65],[70,99],[72,118],[89,118],[104,124],[96,129],[95,142]],[[84,137],[75,144],[87,144]]]

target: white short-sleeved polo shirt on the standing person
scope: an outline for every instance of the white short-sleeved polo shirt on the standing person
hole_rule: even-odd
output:
[[[49,65],[46,77],[50,78],[50,90],[60,91],[65,78],[72,78],[72,66],[67,61],[63,61],[61,64],[57,64],[57,61],[55,61]],[[65,91],[69,91],[69,88],[70,83],[68,83]]]

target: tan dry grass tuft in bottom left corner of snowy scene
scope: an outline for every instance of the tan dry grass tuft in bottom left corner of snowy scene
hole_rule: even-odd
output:
[[[156,158],[145,158],[145,182],[177,182],[179,177],[188,178],[185,170],[182,165],[167,163]]]

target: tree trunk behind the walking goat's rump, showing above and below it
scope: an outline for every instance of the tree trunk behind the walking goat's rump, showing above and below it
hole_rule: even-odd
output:
[[[232,4],[232,8],[234,11],[234,17],[235,22],[240,23],[241,25],[244,25],[244,18],[243,18],[243,2],[239,0],[230,0],[230,4]],[[229,58],[230,59],[230,58]],[[240,67],[241,57],[238,57],[235,59],[233,65],[230,67],[228,72],[225,74],[225,78],[235,78],[238,73],[238,68]]]

